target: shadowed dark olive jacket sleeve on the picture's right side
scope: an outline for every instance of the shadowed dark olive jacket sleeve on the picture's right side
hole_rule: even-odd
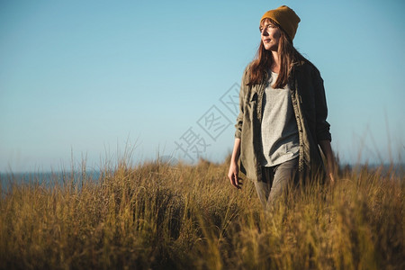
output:
[[[320,71],[315,68],[312,74],[313,85],[315,89],[315,110],[316,110],[316,135],[317,140],[332,140],[330,135],[330,124],[327,121],[328,105],[325,96],[325,88]]]

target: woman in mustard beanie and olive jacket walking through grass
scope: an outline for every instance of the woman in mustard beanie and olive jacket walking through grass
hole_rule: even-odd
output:
[[[320,148],[328,161],[329,180],[334,181],[323,80],[293,47],[300,21],[285,5],[263,15],[257,58],[245,69],[239,93],[228,177],[240,188],[240,157],[240,171],[254,181],[265,207],[288,184],[324,174]]]

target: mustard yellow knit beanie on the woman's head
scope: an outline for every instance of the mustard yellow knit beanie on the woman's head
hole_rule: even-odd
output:
[[[276,9],[269,10],[263,15],[262,19],[260,19],[260,23],[266,18],[278,23],[293,41],[295,33],[297,32],[298,23],[301,22],[301,19],[291,8],[282,5]]]

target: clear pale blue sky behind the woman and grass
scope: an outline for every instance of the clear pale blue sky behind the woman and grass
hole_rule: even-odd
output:
[[[281,4],[302,19],[294,46],[320,69],[341,160],[403,162],[404,1],[3,0],[0,171],[97,169],[125,148],[223,161],[227,100]]]

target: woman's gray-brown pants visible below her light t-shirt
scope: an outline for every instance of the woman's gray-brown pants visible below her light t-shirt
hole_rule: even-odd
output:
[[[262,166],[262,181],[255,181],[257,195],[266,210],[274,206],[276,200],[298,178],[298,157],[276,166]]]

